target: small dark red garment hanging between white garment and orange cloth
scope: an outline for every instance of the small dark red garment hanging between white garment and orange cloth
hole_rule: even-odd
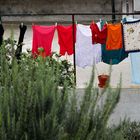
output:
[[[91,23],[90,29],[92,31],[92,43],[100,43],[100,44],[106,44],[107,39],[107,25],[105,24],[103,29],[100,31],[98,28],[98,25],[96,23]]]

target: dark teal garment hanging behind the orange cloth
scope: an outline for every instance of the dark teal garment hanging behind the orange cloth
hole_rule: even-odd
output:
[[[105,22],[101,22],[101,27],[103,28]],[[128,53],[125,52],[124,47],[119,50],[107,50],[106,44],[102,45],[102,61],[106,64],[119,64],[122,60],[128,57]]]

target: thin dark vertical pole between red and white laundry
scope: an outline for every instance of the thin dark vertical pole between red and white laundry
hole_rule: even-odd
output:
[[[74,63],[74,82],[75,82],[75,85],[76,85],[76,61],[75,61],[75,56],[76,56],[76,53],[75,53],[75,15],[72,14],[72,33],[73,33],[73,63]]]

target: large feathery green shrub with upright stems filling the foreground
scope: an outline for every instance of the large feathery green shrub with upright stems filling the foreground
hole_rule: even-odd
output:
[[[93,87],[93,72],[90,84],[81,94],[69,87],[65,76],[60,80],[68,72],[62,71],[66,67],[69,68],[66,61],[51,57],[34,60],[29,53],[23,54],[20,62],[14,56],[9,62],[3,44],[0,48],[1,140],[125,140],[124,125],[107,127],[119,101],[120,88],[114,90],[108,86],[99,94]],[[104,95],[104,104],[100,105]]]

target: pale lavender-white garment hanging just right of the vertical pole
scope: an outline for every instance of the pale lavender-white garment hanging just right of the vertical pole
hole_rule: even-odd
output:
[[[77,25],[75,46],[77,66],[85,68],[101,62],[101,44],[92,44],[90,26]]]

